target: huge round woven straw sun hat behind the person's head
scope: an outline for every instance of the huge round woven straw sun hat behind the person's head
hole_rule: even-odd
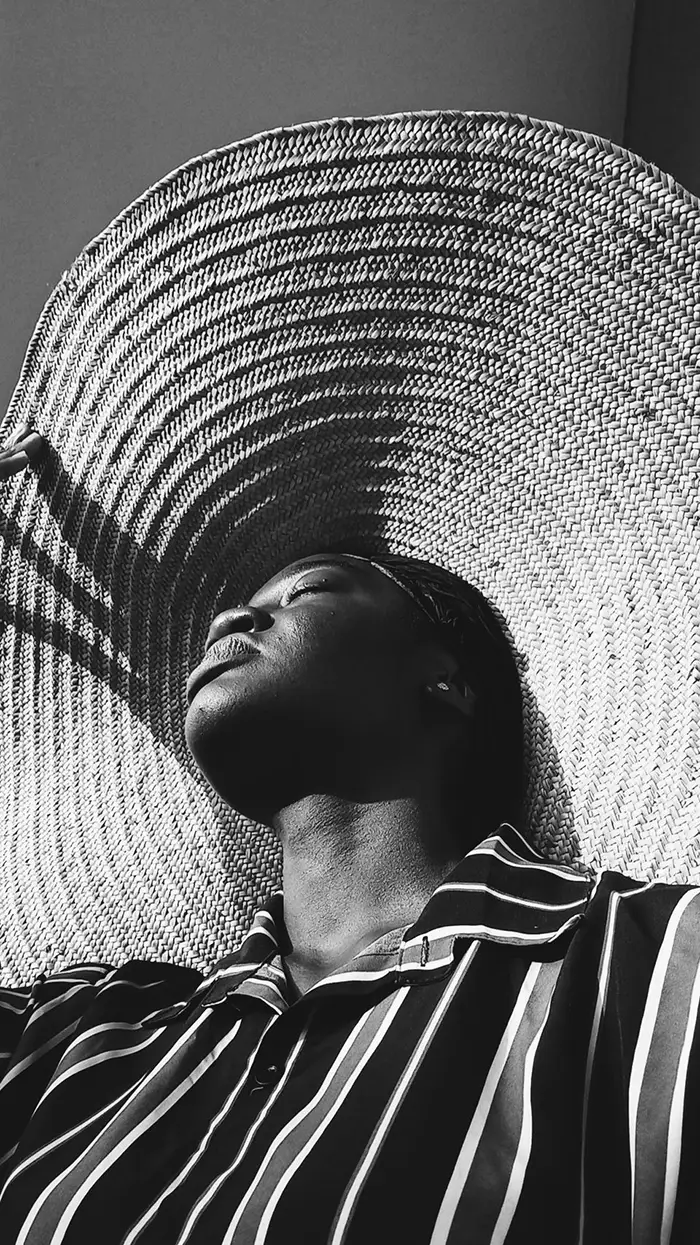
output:
[[[213,615],[319,549],[473,584],[519,662],[522,829],[700,881],[700,203],[526,116],[209,152],[90,243],[0,439],[0,961],[232,950],[272,832],[184,745]]]

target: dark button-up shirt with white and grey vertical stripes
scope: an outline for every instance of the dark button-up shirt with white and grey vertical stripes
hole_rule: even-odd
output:
[[[0,992],[2,1245],[700,1241],[700,888],[501,825],[298,998],[283,939]]]

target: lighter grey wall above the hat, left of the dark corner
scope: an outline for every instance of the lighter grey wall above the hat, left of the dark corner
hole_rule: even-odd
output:
[[[666,0],[668,2],[668,0]],[[634,0],[0,0],[0,403],[77,251],[199,152],[409,108],[623,141]]]

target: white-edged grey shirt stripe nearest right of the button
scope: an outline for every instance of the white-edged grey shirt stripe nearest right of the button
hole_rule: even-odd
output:
[[[407,990],[399,990],[365,1012],[361,1027],[356,1026],[344,1043],[309,1106],[289,1122],[269,1148],[222,1245],[250,1245],[252,1241],[260,1245],[264,1241],[273,1211],[289,1180],[345,1102],[407,997]]]

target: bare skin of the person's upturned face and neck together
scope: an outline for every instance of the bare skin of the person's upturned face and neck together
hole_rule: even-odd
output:
[[[212,621],[207,649],[240,635],[255,651],[196,690],[186,718],[212,787],[279,835],[299,994],[412,923],[470,847],[468,810],[456,827],[440,797],[446,742],[473,705],[456,659],[380,570],[319,557]]]

